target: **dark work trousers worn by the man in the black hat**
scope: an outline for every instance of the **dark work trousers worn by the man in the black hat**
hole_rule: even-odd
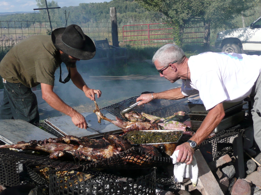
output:
[[[0,76],[1,82],[3,82]],[[36,95],[22,83],[4,84],[4,99],[0,109],[0,119],[21,119],[29,123],[39,123]]]

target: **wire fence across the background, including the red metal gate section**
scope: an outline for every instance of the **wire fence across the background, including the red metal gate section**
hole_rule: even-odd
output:
[[[92,40],[108,38],[112,42],[111,23],[106,22],[67,22],[77,24]],[[66,22],[52,22],[52,29],[65,27]],[[150,26],[150,29],[148,29]],[[13,47],[17,42],[32,35],[50,35],[49,22],[34,21],[0,21],[0,48]],[[203,43],[204,26],[184,29],[185,43]],[[173,43],[173,29],[166,23],[135,23],[118,24],[118,41],[120,46],[157,47]]]

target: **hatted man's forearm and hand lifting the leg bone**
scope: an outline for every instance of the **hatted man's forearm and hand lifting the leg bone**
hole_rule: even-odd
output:
[[[102,95],[102,92],[100,90],[90,89],[86,85],[86,83],[82,79],[82,76],[78,72],[76,67],[70,68],[70,70],[71,70],[71,80],[73,81],[73,84],[79,89],[81,89],[85,93],[86,97],[90,98],[91,100],[95,100],[95,94],[97,94],[98,98]]]

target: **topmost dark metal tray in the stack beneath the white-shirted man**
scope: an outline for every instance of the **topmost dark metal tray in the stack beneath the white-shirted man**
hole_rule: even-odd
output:
[[[241,103],[243,103],[243,100],[239,102],[223,102],[223,107],[224,110],[227,110]],[[209,112],[209,110],[206,110],[204,104],[202,103],[186,103],[186,104],[188,105],[191,113],[207,114]]]

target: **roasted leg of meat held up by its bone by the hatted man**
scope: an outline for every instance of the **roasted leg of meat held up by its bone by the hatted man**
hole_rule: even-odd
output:
[[[120,127],[124,133],[127,133],[129,131],[139,131],[139,130],[154,130],[158,129],[158,124],[152,124],[150,122],[124,122],[123,120],[119,119],[116,116],[116,121],[108,119],[107,117],[103,116],[103,114],[100,112],[100,109],[94,101],[96,109],[93,110],[93,112],[97,115],[98,123],[101,122],[101,119],[111,122],[112,124],[116,125],[117,127]]]

